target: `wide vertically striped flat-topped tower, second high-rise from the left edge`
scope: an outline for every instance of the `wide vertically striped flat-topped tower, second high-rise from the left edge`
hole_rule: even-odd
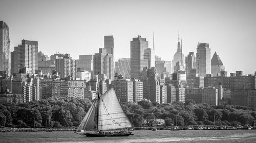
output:
[[[29,73],[33,74],[38,68],[37,53],[38,42],[22,40],[22,44],[14,47],[14,73],[18,73],[20,66],[29,69]]]

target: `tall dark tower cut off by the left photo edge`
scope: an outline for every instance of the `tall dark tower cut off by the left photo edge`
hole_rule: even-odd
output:
[[[4,21],[0,21],[0,71],[6,71],[10,75],[9,27]]]

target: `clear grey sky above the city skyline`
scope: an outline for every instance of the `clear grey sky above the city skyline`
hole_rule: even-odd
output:
[[[0,0],[0,20],[9,26],[10,48],[38,41],[47,55],[73,59],[97,53],[104,36],[114,36],[115,61],[130,58],[130,41],[140,35],[162,60],[172,61],[178,31],[185,56],[209,43],[225,70],[256,71],[256,1],[28,1]]]

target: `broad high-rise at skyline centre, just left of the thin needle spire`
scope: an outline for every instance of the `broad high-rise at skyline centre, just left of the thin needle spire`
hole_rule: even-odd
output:
[[[148,65],[148,60],[143,60],[144,50],[148,48],[146,38],[133,38],[131,41],[131,77],[139,77],[143,67]]]

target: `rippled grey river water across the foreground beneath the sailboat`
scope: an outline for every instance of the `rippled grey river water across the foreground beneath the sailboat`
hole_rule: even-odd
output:
[[[134,131],[128,137],[84,137],[70,131],[6,132],[0,142],[254,142],[256,130]]]

